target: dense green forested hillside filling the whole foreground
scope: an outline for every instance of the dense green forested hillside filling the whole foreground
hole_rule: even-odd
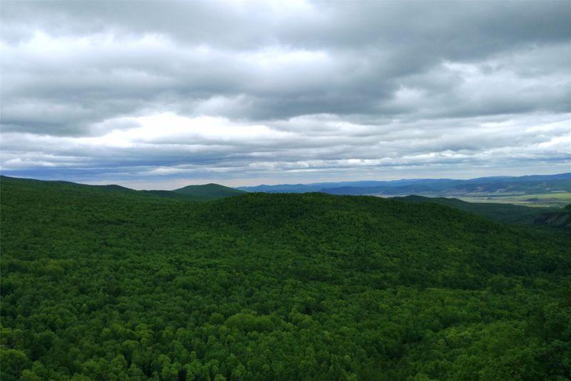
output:
[[[571,377],[562,231],[317,193],[0,204],[3,381]]]

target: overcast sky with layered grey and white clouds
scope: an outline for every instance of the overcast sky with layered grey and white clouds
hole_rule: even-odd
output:
[[[571,1],[2,1],[2,174],[571,172]]]

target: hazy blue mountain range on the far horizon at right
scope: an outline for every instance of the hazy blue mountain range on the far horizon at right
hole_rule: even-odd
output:
[[[323,192],[346,195],[459,197],[467,194],[537,194],[571,192],[571,173],[521,177],[480,177],[477,179],[402,179],[394,181],[321,182],[314,184],[258,185],[238,187],[246,192]]]

